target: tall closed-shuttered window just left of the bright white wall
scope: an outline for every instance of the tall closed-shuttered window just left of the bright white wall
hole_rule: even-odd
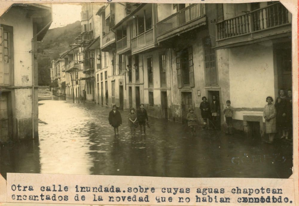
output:
[[[216,71],[216,59],[215,50],[211,48],[211,39],[203,39],[204,55],[205,55],[205,84],[216,85],[217,84],[217,71]]]

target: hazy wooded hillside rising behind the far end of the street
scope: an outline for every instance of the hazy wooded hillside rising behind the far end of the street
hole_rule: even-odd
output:
[[[74,39],[80,32],[80,21],[77,21],[64,27],[49,29],[44,39],[38,43],[38,84],[40,86],[50,85],[51,60],[68,50],[69,45],[74,43]]]

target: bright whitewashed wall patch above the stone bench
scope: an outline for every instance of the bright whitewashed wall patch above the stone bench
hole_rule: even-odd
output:
[[[233,107],[264,107],[274,98],[273,48],[270,41],[229,51],[230,100]]]

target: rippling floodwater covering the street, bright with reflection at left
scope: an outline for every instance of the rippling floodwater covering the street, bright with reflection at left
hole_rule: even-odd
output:
[[[292,143],[269,145],[242,135],[149,118],[147,134],[131,138],[128,111],[115,137],[111,108],[59,99],[39,101],[39,141],[2,146],[0,172],[161,177],[288,178]]]

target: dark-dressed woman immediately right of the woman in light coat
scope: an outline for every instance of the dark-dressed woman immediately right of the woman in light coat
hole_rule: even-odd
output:
[[[277,97],[275,101],[275,108],[276,108],[276,126],[278,132],[282,135],[280,139],[287,137],[287,105],[289,104],[289,100],[286,97],[286,93],[284,90],[279,90],[279,97]]]

